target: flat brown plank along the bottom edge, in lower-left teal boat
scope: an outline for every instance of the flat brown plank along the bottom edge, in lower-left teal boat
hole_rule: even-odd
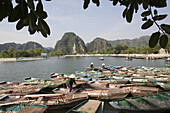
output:
[[[46,107],[31,107],[31,106],[26,106],[23,109],[21,109],[18,113],[44,113]]]

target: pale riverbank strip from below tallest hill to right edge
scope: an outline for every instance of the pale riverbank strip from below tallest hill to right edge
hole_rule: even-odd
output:
[[[162,59],[170,57],[170,54],[76,54],[65,55],[66,57],[130,57],[139,59]]]

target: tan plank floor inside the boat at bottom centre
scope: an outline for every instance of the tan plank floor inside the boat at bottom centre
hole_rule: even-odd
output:
[[[95,113],[98,107],[100,106],[101,101],[98,100],[89,100],[86,104],[80,107],[77,111],[85,113]]]

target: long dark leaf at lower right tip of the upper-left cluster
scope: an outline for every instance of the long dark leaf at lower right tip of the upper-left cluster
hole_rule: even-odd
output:
[[[50,28],[49,28],[48,24],[43,19],[39,19],[38,25],[41,27],[41,29],[44,31],[44,33],[50,35]]]

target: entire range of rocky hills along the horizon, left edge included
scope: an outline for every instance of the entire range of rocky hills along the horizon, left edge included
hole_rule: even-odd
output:
[[[45,48],[37,42],[30,41],[24,44],[16,44],[16,43],[0,44],[0,52],[2,50],[8,50],[9,47],[13,47],[14,50],[29,50],[29,49],[41,48],[47,50],[48,53],[51,51],[61,51],[63,54],[78,54],[78,53],[81,54],[87,52],[98,52],[108,47],[114,47],[117,44],[127,45],[129,47],[143,46],[148,44],[149,38],[150,36],[142,36],[132,40],[122,39],[122,40],[107,41],[103,38],[97,37],[92,42],[85,44],[84,41],[75,33],[67,32],[62,36],[62,39],[56,43],[54,50],[51,47]]]

